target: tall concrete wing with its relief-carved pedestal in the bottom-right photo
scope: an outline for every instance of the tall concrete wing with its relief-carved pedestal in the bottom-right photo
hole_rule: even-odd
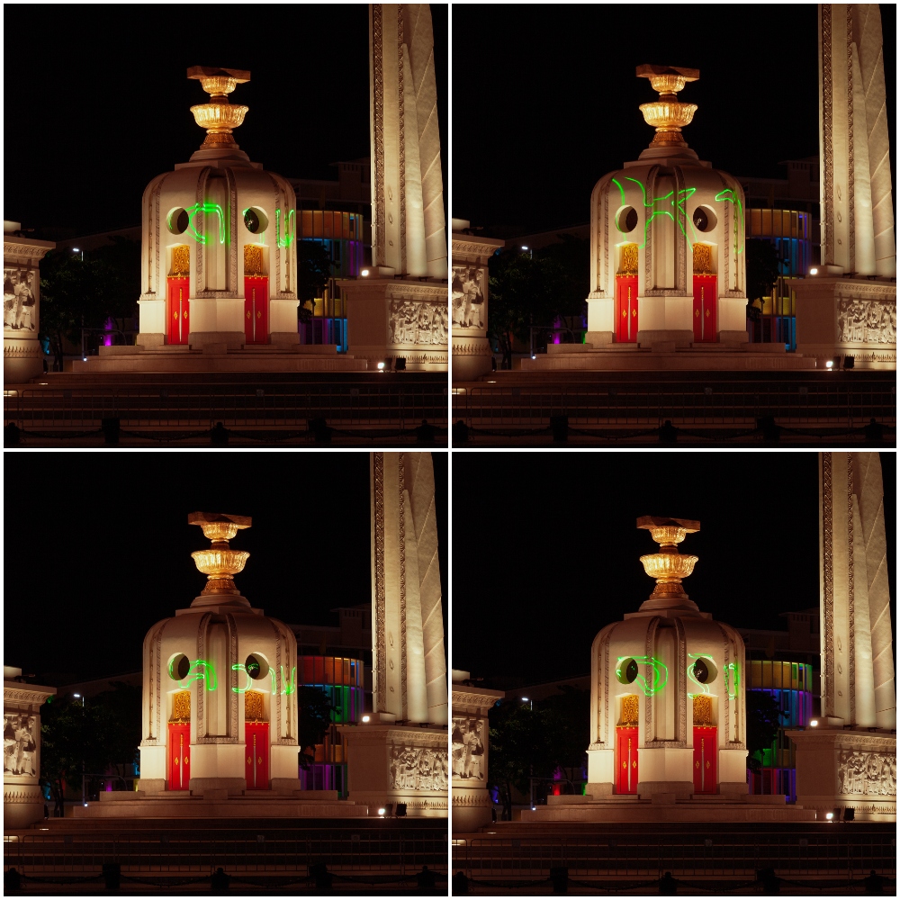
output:
[[[797,802],[896,821],[896,688],[875,453],[819,458],[822,718],[791,732]]]

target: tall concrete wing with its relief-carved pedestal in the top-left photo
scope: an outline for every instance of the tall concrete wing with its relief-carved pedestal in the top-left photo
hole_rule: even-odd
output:
[[[371,368],[446,371],[446,218],[428,4],[370,5],[369,75],[373,266],[340,283],[348,346]]]

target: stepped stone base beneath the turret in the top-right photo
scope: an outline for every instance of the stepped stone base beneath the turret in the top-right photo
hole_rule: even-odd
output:
[[[718,341],[709,343],[695,343],[689,331],[639,331],[637,341],[631,344],[615,343],[611,332],[589,331],[584,344],[551,344],[545,354],[522,360],[523,372],[740,372],[815,368],[815,357],[787,353],[784,344],[748,343],[745,331],[724,331]]]

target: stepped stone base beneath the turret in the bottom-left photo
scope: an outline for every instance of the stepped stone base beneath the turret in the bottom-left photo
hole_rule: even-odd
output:
[[[289,779],[284,779],[289,780]],[[143,782],[142,782],[143,784]],[[338,799],[336,790],[246,790],[206,788],[189,791],[107,791],[87,806],[75,806],[79,819],[321,818],[369,815],[365,804]],[[41,807],[42,808],[42,807]]]

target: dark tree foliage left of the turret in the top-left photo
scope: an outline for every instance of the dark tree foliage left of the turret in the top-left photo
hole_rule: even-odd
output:
[[[127,238],[85,252],[52,250],[40,262],[40,338],[49,340],[61,372],[65,344],[80,344],[81,329],[124,330],[138,314],[140,246]]]

